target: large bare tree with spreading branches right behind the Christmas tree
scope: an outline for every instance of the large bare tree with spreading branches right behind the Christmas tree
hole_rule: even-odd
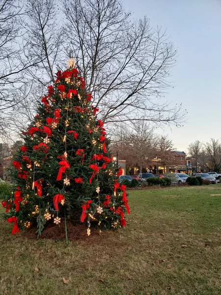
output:
[[[64,0],[68,50],[106,123],[183,122],[181,106],[161,104],[176,50],[149,20],[131,20],[120,0]]]

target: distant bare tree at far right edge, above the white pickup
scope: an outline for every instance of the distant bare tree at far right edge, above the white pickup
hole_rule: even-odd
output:
[[[219,140],[211,138],[210,142],[205,144],[205,151],[208,157],[206,166],[215,172],[221,170],[221,144]]]

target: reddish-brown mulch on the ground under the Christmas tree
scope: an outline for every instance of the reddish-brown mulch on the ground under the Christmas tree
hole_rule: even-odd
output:
[[[68,240],[85,240],[88,238],[87,236],[87,227],[85,224],[74,223],[71,220],[67,220],[67,235]],[[60,225],[60,226],[59,226]],[[39,239],[54,239],[54,240],[64,240],[66,239],[65,235],[65,223],[64,220],[61,219],[61,223],[59,225],[54,224],[53,222],[48,223],[44,230],[39,236]],[[91,236],[99,236],[99,230],[95,230],[93,228],[91,230]],[[32,227],[28,229],[26,232],[22,233],[23,237],[28,239],[37,239],[37,227]]]

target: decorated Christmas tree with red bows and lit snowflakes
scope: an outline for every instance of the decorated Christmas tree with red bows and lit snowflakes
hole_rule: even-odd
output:
[[[4,200],[12,234],[63,218],[100,231],[125,226],[129,211],[121,168],[113,162],[104,123],[91,105],[91,93],[70,59],[68,69],[56,73],[54,86],[42,97],[37,115],[22,133],[24,145],[13,159],[16,190]]]

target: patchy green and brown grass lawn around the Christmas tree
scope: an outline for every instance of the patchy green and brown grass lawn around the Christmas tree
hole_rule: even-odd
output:
[[[125,229],[68,245],[11,236],[0,221],[0,294],[221,295],[221,184],[129,201]]]

